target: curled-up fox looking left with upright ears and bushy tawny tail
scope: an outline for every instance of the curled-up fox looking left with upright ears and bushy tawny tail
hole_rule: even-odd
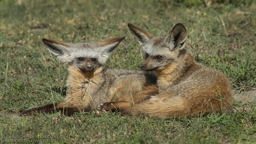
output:
[[[196,62],[192,53],[182,48],[187,37],[183,24],[176,24],[167,36],[154,36],[130,23],[128,27],[145,52],[140,68],[155,71],[159,94],[133,107],[120,106],[122,114],[172,118],[231,110],[233,92],[228,78]],[[114,106],[108,102],[98,107],[115,110]]]

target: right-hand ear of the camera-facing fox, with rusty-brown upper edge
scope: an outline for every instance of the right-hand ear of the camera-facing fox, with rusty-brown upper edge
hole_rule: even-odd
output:
[[[124,38],[125,36],[107,39],[103,42],[100,42],[100,46],[103,47],[103,52],[108,54],[109,52],[112,52]]]

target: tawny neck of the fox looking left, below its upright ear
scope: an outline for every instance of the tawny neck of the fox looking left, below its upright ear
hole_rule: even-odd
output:
[[[192,67],[196,65],[192,54],[185,52],[182,56],[179,56],[177,61],[165,66],[163,70],[156,70],[159,92],[164,92],[172,85],[179,84],[182,80],[186,79],[195,69]]]

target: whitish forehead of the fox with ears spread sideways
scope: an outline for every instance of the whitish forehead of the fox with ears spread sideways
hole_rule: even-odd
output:
[[[97,58],[101,54],[102,46],[98,43],[75,43],[70,44],[70,56],[82,58]]]

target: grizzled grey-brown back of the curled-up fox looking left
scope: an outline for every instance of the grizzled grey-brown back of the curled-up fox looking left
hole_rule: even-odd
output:
[[[219,94],[218,90],[220,92],[231,91],[230,82],[222,72],[214,68],[208,68],[200,63],[195,63],[196,70],[192,69],[194,71],[186,79],[170,86],[166,92],[190,98],[196,95],[207,96],[210,93],[211,95]]]

